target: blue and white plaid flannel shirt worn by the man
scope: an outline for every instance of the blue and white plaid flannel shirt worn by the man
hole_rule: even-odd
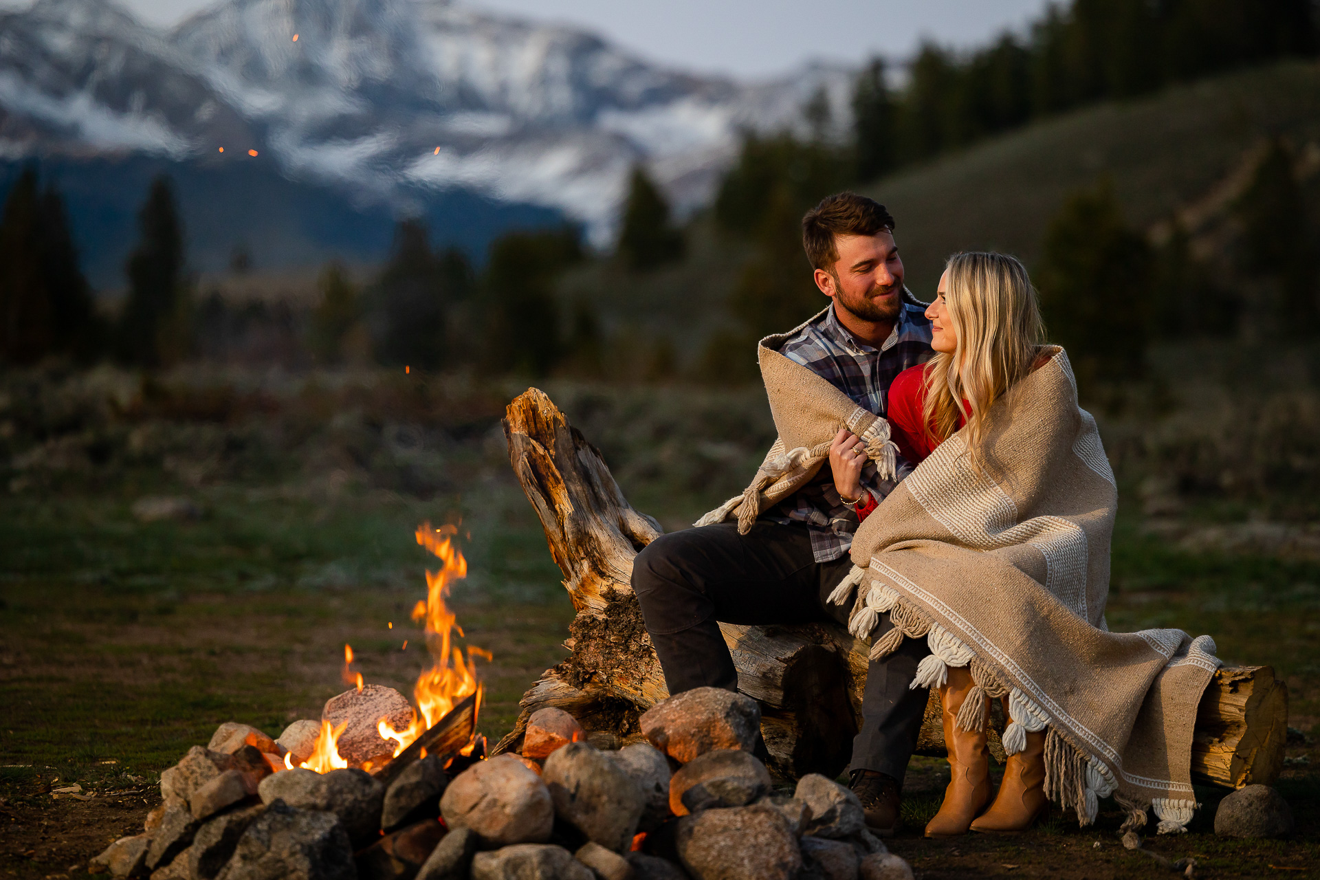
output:
[[[894,379],[908,367],[924,364],[935,354],[931,351],[931,322],[925,317],[925,305],[907,288],[903,289],[903,309],[894,331],[879,348],[853,336],[838,322],[832,306],[784,340],[779,352],[828,379],[854,404],[876,416],[884,416],[888,409]],[[895,479],[882,480],[875,474],[875,462],[867,462],[862,468],[862,487],[879,501],[911,472],[912,464],[900,455]],[[812,551],[817,562],[830,562],[847,553],[861,525],[857,512],[843,504],[834,489],[834,472],[829,463],[810,483],[781,501],[774,512],[767,512],[766,519],[784,524],[805,522],[812,533]]]

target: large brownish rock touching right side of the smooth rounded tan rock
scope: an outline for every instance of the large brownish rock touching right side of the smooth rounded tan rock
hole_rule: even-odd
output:
[[[618,764],[589,743],[569,743],[545,759],[541,778],[561,821],[607,850],[628,850],[645,798]]]

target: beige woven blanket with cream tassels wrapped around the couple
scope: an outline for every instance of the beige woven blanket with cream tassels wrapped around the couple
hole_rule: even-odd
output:
[[[892,462],[886,420],[858,414],[842,392],[774,351],[780,339],[760,346],[779,441],[743,495],[698,525],[737,513],[750,526],[821,467],[841,424],[882,467]],[[1183,831],[1196,807],[1196,708],[1220,661],[1208,636],[1109,632],[1118,491],[1096,422],[1077,405],[1068,356],[1049,354],[991,406],[977,463],[960,430],[867,517],[853,540],[855,565],[830,599],[853,603],[849,628],[862,639],[890,615],[895,625],[871,645],[873,658],[903,639],[928,640],[932,656],[913,687],[970,666],[986,695],[1008,697],[1005,751],[1047,730],[1045,792],[1082,825],[1113,794],[1129,811],[1125,829],[1144,825],[1151,806],[1160,833]],[[969,697],[958,726],[982,728],[983,705]]]

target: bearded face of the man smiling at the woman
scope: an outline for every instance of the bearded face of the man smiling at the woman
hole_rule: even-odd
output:
[[[838,260],[816,270],[816,285],[861,321],[892,322],[903,307],[903,260],[888,230],[834,237]]]

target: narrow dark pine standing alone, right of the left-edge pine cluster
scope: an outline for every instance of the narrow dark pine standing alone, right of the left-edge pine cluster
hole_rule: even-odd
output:
[[[128,302],[119,321],[120,360],[158,367],[186,351],[183,226],[168,175],[152,181],[137,215],[140,239],[128,256]]]

